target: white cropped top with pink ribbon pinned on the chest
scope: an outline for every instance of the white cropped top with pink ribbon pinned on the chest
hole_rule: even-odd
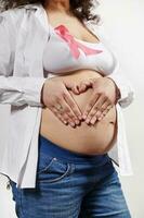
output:
[[[91,69],[107,75],[114,71],[113,53],[99,43],[88,43],[73,37],[64,25],[52,27],[43,51],[43,70],[50,77],[66,72]]]

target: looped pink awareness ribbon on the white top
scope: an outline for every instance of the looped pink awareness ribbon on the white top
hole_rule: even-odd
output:
[[[79,48],[86,53],[86,56],[103,52],[102,50],[92,49],[80,44],[79,41],[76,41],[74,36],[69,34],[68,29],[64,25],[60,25],[54,29],[56,34],[68,44],[70,51],[76,59],[80,56]]]

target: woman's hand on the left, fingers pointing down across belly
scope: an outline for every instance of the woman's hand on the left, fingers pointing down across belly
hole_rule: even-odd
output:
[[[70,84],[73,86],[73,82]],[[69,83],[63,82],[57,77],[48,78],[41,92],[41,101],[48,107],[64,124],[75,128],[82,120],[82,113],[68,92]],[[62,109],[57,109],[57,106]]]

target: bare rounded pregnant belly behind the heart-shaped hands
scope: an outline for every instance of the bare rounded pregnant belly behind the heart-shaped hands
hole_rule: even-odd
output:
[[[78,71],[75,74],[62,76],[63,80],[79,82],[88,77],[100,77],[95,71]],[[61,76],[58,76],[61,77]],[[91,97],[92,88],[87,92],[75,95],[69,90],[83,112],[84,106]],[[96,155],[107,153],[114,145],[117,134],[117,116],[115,106],[108,113],[94,125],[88,125],[84,121],[75,129],[65,125],[56,118],[49,108],[42,109],[40,134],[57,146],[68,150]]]

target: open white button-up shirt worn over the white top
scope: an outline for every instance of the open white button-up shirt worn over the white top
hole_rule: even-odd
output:
[[[83,21],[101,41],[110,47],[103,28]],[[35,187],[38,161],[38,135],[42,105],[43,76],[42,53],[49,39],[49,24],[41,4],[27,4],[0,13],[0,104],[11,105],[8,144],[0,159],[0,172],[11,178],[18,187]],[[119,165],[121,175],[132,174],[122,108],[133,100],[133,87],[122,75],[118,60],[108,77],[121,93],[116,105],[118,134],[116,144],[108,153]],[[0,145],[2,146],[2,145]]]

